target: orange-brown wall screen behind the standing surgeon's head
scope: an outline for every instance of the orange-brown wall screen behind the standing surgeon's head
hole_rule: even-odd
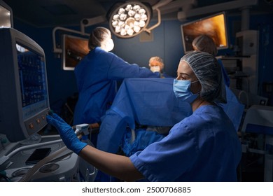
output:
[[[69,34],[62,35],[62,69],[74,70],[78,62],[80,62],[88,52],[87,38]]]

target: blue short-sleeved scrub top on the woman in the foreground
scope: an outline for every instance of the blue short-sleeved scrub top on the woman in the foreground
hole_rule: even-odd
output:
[[[130,157],[148,181],[237,181],[241,143],[219,106],[201,106]]]

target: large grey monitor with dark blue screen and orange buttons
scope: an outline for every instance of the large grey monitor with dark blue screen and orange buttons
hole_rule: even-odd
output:
[[[0,134],[21,141],[47,125],[45,53],[13,28],[0,28],[0,43]]]

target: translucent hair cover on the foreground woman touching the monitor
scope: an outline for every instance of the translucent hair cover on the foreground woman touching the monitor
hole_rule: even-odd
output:
[[[193,51],[184,55],[181,61],[188,63],[200,81],[202,86],[200,97],[202,99],[207,102],[226,103],[221,66],[213,55],[207,52]]]

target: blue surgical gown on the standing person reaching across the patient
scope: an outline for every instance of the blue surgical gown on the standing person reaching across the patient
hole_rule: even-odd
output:
[[[91,50],[76,66],[78,102],[73,125],[99,123],[110,108],[117,92],[116,80],[123,78],[159,78],[160,73],[123,59],[97,47]]]

